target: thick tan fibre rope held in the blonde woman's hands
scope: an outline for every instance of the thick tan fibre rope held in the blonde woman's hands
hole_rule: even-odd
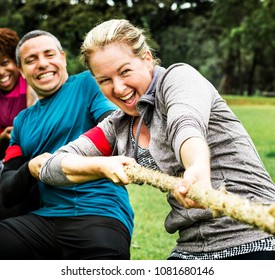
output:
[[[125,172],[131,183],[151,185],[162,192],[172,191],[174,186],[182,180],[180,177],[169,176],[139,165],[127,165]],[[215,217],[225,215],[275,234],[275,204],[251,203],[247,199],[228,193],[224,187],[215,190],[192,185],[186,197],[202,207],[209,208]]]

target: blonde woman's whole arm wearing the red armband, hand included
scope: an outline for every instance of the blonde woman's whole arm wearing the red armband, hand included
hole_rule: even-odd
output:
[[[43,164],[39,178],[47,184],[60,186],[101,178],[127,184],[129,181],[123,167],[136,162],[124,156],[111,156],[115,137],[107,125],[109,121],[104,120],[101,127],[90,129],[58,149]]]

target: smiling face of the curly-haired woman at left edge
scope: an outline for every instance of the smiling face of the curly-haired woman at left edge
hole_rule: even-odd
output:
[[[0,57],[0,90],[10,92],[16,86],[20,72],[15,62],[7,56]]]

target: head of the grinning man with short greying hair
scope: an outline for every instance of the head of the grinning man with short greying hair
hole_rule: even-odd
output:
[[[19,42],[16,59],[23,76],[41,99],[54,94],[69,75],[60,42],[51,35],[32,34]]]

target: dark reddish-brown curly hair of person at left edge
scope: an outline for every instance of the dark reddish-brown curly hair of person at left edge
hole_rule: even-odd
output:
[[[18,42],[19,36],[16,31],[0,28],[0,56],[7,56],[15,62],[15,49]]]

